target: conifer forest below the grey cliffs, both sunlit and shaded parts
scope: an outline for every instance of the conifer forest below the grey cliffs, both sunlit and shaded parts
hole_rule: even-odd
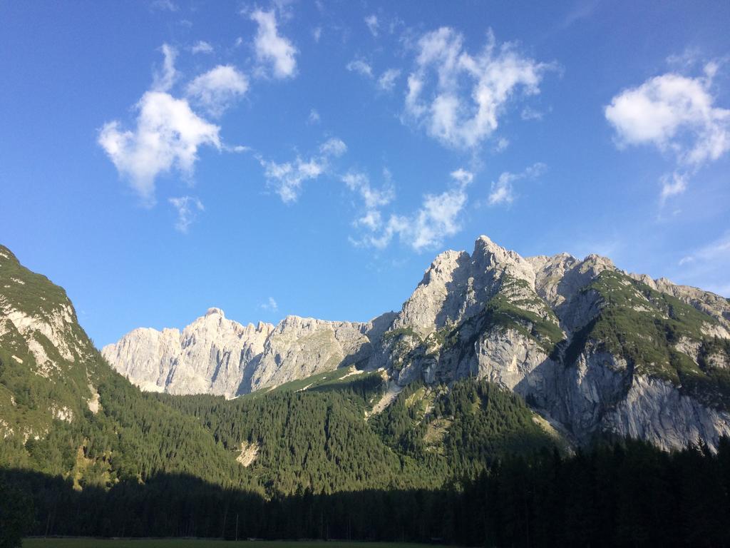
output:
[[[383,389],[373,379],[226,401],[110,376],[104,414],[58,421],[26,452],[1,446],[0,520],[34,535],[730,542],[727,439],[717,454],[638,441],[573,453],[517,396],[472,379],[414,384],[365,421]],[[241,444],[260,447],[248,466]]]

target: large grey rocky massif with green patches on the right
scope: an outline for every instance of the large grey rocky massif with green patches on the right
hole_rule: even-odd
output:
[[[523,259],[480,237],[471,256],[447,251],[426,270],[385,333],[383,361],[400,385],[487,378],[579,444],[609,434],[714,447],[730,433],[730,387],[713,373],[730,364],[728,319],[723,297],[602,256]]]

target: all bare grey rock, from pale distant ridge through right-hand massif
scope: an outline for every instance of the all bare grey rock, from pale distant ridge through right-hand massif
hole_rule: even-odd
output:
[[[486,236],[445,251],[398,313],[367,323],[288,316],[247,327],[212,308],[177,330],[134,330],[104,357],[146,389],[234,397],[336,368],[412,382],[487,378],[578,443],[678,447],[730,434],[730,302],[610,259],[523,257]]]

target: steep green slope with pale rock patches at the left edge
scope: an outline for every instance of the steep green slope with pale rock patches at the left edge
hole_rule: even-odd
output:
[[[0,308],[0,466],[63,476],[79,489],[157,473],[251,486],[210,432],[113,371],[66,292],[4,247]]]

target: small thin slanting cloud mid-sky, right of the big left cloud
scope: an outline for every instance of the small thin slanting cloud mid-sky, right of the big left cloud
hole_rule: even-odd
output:
[[[264,177],[269,186],[279,194],[285,203],[296,202],[301,194],[301,185],[304,181],[314,180],[322,175],[329,167],[329,159],[342,156],[347,151],[347,145],[337,137],[323,142],[320,145],[320,155],[308,160],[297,156],[293,161],[279,164],[259,158],[261,167],[264,167]]]

